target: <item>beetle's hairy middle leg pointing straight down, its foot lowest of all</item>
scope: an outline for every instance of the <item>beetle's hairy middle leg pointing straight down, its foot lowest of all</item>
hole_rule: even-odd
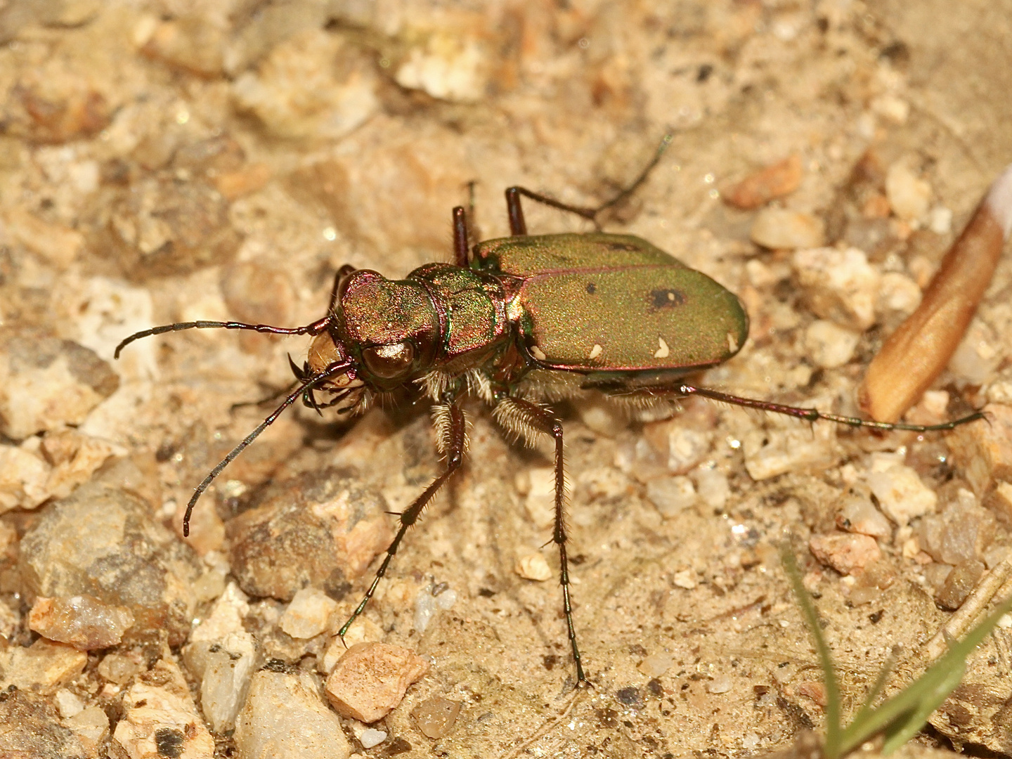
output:
[[[519,398],[503,398],[496,404],[493,416],[511,432],[530,438],[533,434],[551,435],[556,441],[556,523],[552,541],[559,547],[559,584],[563,587],[563,610],[566,613],[566,629],[573,660],[576,663],[578,686],[588,686],[590,681],[583,673],[580,649],[576,644],[576,627],[573,625],[573,604],[569,592],[569,559],[566,555],[566,475],[563,470],[563,424],[547,409]]]

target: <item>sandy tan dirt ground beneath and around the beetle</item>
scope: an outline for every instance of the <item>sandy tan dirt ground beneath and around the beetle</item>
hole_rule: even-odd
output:
[[[820,220],[827,245],[863,251],[873,276],[903,275],[889,281],[916,289],[1012,161],[1008,0],[958,8],[935,0],[12,0],[0,6],[0,327],[83,345],[118,374],[117,387],[63,369],[43,376],[10,359],[9,376],[29,380],[8,387],[33,394],[0,391],[8,416],[23,411],[22,426],[0,438],[10,449],[3,460],[22,456],[9,465],[22,475],[38,458],[57,468],[67,456],[51,451],[52,441],[68,429],[85,441],[75,445],[98,451],[77,480],[66,474],[60,488],[38,486],[37,498],[19,492],[0,502],[10,509],[0,517],[0,536],[9,535],[0,590],[11,645],[32,641],[27,612],[41,593],[18,570],[17,542],[53,501],[125,458],[132,492],[182,540],[192,488],[266,413],[232,405],[286,387],[285,354],[301,364],[308,347],[302,337],[192,330],[133,344],[114,361],[114,346],[134,331],[194,319],[308,324],[324,314],[342,264],[394,277],[449,260],[450,208],[472,200],[478,239],[506,236],[502,191],[511,184],[600,202],[670,132],[660,164],[604,228],[650,240],[746,304],[749,342],[698,384],[856,415],[862,366],[910,308],[879,301],[869,323],[834,318],[820,307],[820,286],[800,281],[791,246],[752,242],[760,210],[731,207],[722,192],[796,155],[799,186],[772,204]],[[891,208],[882,189],[898,164],[929,188],[917,218],[900,216],[895,201]],[[591,229],[553,209],[525,210],[531,234]],[[965,349],[935,385],[948,396],[916,407],[918,419],[1012,403],[1010,281],[1005,260]],[[842,363],[812,357],[817,320],[853,336]],[[69,406],[60,393],[46,395],[47,383],[80,389],[73,414],[61,411]],[[22,401],[41,397],[50,401],[38,410]],[[875,436],[696,401],[683,407],[671,421],[630,420],[596,403],[558,407],[575,623],[594,686],[575,696],[559,585],[516,569],[537,576],[534,555],[557,567],[544,545],[551,450],[511,445],[481,404],[469,403],[467,465],[410,531],[357,623],[368,640],[410,648],[431,667],[372,726],[387,734],[375,748],[356,743],[362,726],[344,720],[357,751],[781,749],[822,720],[821,675],[779,567],[781,541],[819,597],[850,705],[893,647],[903,648],[891,688],[923,667],[918,652],[949,613],[935,603],[949,567],[975,561],[983,571],[1007,553],[1000,494],[1012,490],[1001,489],[1000,473],[971,482],[946,435]],[[253,552],[237,542],[264,533],[240,532],[232,520],[248,522],[251,509],[277,501],[276,490],[263,492],[269,483],[308,488],[305,478],[330,468],[399,511],[440,471],[430,430],[424,404],[353,421],[301,407],[281,417],[197,508],[189,543],[199,559],[186,559],[185,582],[195,566],[203,575],[186,613],[204,618],[241,575],[229,563]],[[837,529],[838,513],[854,499],[880,505],[868,474],[896,463],[913,471],[915,495],[933,494],[930,508],[909,524],[886,522],[872,540],[878,554],[851,574],[820,564],[810,539],[856,534]],[[979,519],[972,555],[944,562],[927,550],[922,514],[958,506],[979,515],[982,505],[999,520]],[[368,524],[389,534],[383,519]],[[355,544],[371,544],[365,537]],[[292,588],[323,587],[343,620],[377,560],[340,575],[328,557],[314,561],[328,567],[320,570],[327,582],[311,573]],[[244,619],[260,661],[322,672],[334,629],[309,641],[282,634],[277,619],[291,595],[270,592],[249,599]],[[178,654],[163,644],[128,636],[113,651],[141,651],[150,666]],[[948,737],[956,748],[965,740],[1012,753],[1002,716],[1012,695],[1002,685],[1009,646],[999,630],[982,647],[971,668],[977,690],[964,690],[961,710],[945,712],[926,742],[945,746]],[[66,687],[116,719],[123,707],[110,704],[122,696],[96,669],[103,653]],[[182,666],[199,708],[199,677]],[[435,697],[461,704],[438,737],[420,730],[416,710]],[[230,731],[216,740],[219,755],[236,755]],[[112,744],[106,736],[96,750],[120,756]]]

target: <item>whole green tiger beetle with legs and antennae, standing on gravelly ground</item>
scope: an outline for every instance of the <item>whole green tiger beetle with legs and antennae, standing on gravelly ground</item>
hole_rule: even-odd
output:
[[[443,471],[398,516],[400,527],[368,590],[341,627],[344,637],[372,597],[408,528],[460,468],[468,447],[461,400],[475,396],[492,407],[507,432],[528,442],[555,441],[555,528],[560,584],[577,684],[584,673],[570,599],[563,425],[549,403],[586,392],[650,402],[701,396],[713,401],[853,427],[927,432],[947,430],[981,413],[936,425],[890,424],[826,414],[688,385],[686,374],[723,363],[741,350],[749,318],[741,301],[705,274],[646,240],[600,231],[602,212],[646,181],[671,142],[628,187],[596,207],[560,202],[524,187],[506,190],[510,237],[469,246],[465,208],[452,210],[453,263],[428,263],[404,279],[343,266],[326,315],[304,327],[241,322],[182,322],[131,335],[115,355],[142,337],[186,329],[236,329],[276,335],[312,335],[302,367],[283,403],[243,439],[196,487],[193,506],[219,474],[278,415],[302,397],[318,411],[359,414],[385,393],[416,386],[433,405]],[[528,235],[520,198],[593,222],[589,234]],[[318,402],[316,394],[329,399]]]

